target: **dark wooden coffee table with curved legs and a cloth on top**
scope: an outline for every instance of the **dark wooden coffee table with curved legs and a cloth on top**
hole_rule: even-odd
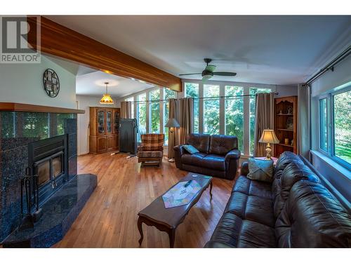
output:
[[[192,177],[192,175],[197,175],[197,177]],[[169,236],[169,245],[171,248],[174,246],[174,238],[176,236],[176,228],[185,219],[187,213],[189,213],[190,208],[199,201],[202,193],[210,186],[210,196],[212,198],[212,177],[206,175],[199,175],[195,173],[188,173],[179,182],[185,182],[189,180],[194,180],[199,183],[201,189],[194,196],[192,201],[187,205],[176,206],[175,208],[165,208],[162,196],[157,197],[150,205],[141,210],[138,213],[138,229],[140,232],[139,244],[143,242],[143,223],[148,226],[154,226],[159,231],[167,232]],[[172,188],[172,187],[171,187]],[[170,188],[170,189],[171,189]],[[169,189],[168,189],[169,190]],[[167,191],[168,191],[167,190]]]

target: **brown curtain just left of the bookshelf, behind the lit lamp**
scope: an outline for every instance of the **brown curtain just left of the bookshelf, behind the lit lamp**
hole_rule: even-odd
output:
[[[263,130],[274,128],[274,93],[256,94],[255,149],[253,156],[265,156],[266,145],[258,142]]]

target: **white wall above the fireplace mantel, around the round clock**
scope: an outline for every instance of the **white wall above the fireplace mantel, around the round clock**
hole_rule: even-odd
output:
[[[46,69],[60,79],[60,93],[49,97],[43,85]],[[0,102],[76,108],[76,76],[44,55],[40,64],[0,64]]]

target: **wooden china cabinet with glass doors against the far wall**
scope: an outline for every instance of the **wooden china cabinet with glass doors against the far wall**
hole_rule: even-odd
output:
[[[119,108],[90,107],[90,154],[119,149],[120,116]]]

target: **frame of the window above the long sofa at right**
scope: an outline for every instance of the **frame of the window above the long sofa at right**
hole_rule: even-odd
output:
[[[318,97],[318,151],[326,155],[331,160],[340,164],[347,169],[351,169],[351,163],[341,159],[335,154],[335,123],[334,123],[334,96],[351,91],[351,85],[340,88],[331,93],[327,93]],[[321,148],[321,109],[320,100],[326,98],[326,116],[327,116],[327,151]]]

